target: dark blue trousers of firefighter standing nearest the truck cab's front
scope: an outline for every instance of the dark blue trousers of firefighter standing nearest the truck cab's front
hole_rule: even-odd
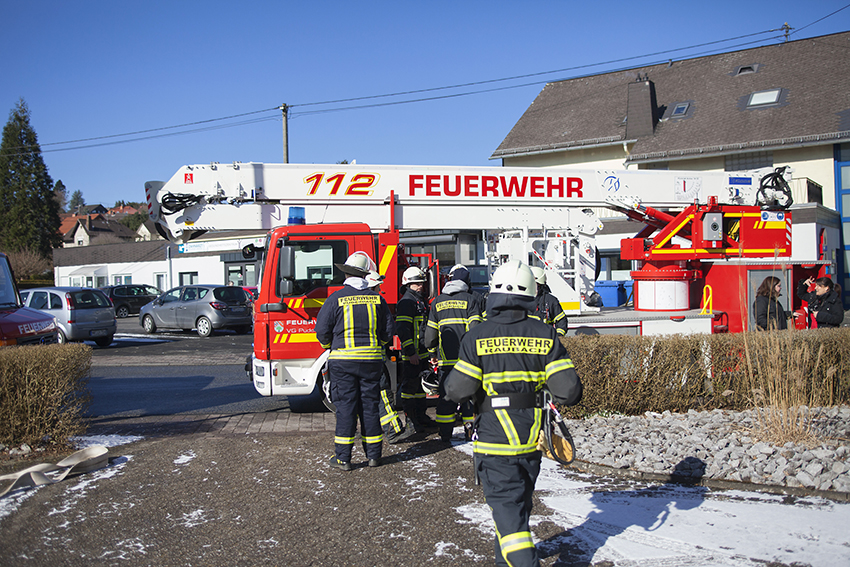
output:
[[[328,361],[331,376],[331,399],[336,405],[334,454],[345,463],[351,462],[351,450],[360,419],[360,437],[367,459],[381,458],[384,439],[379,413],[383,362]]]

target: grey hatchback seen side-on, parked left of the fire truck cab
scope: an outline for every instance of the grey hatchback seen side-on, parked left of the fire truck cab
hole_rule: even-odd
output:
[[[185,285],[175,287],[139,311],[146,333],[159,328],[197,329],[208,337],[214,329],[251,332],[252,308],[248,293],[238,286]]]

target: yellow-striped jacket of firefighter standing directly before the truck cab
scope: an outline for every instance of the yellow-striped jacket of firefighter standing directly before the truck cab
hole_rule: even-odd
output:
[[[365,285],[365,284],[364,284]],[[393,320],[387,302],[371,289],[350,285],[335,291],[316,316],[316,338],[335,360],[383,360],[392,339]]]

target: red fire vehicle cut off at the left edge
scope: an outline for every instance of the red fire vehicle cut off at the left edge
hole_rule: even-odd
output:
[[[0,252],[0,346],[55,342],[56,320],[23,306],[9,258]]]

